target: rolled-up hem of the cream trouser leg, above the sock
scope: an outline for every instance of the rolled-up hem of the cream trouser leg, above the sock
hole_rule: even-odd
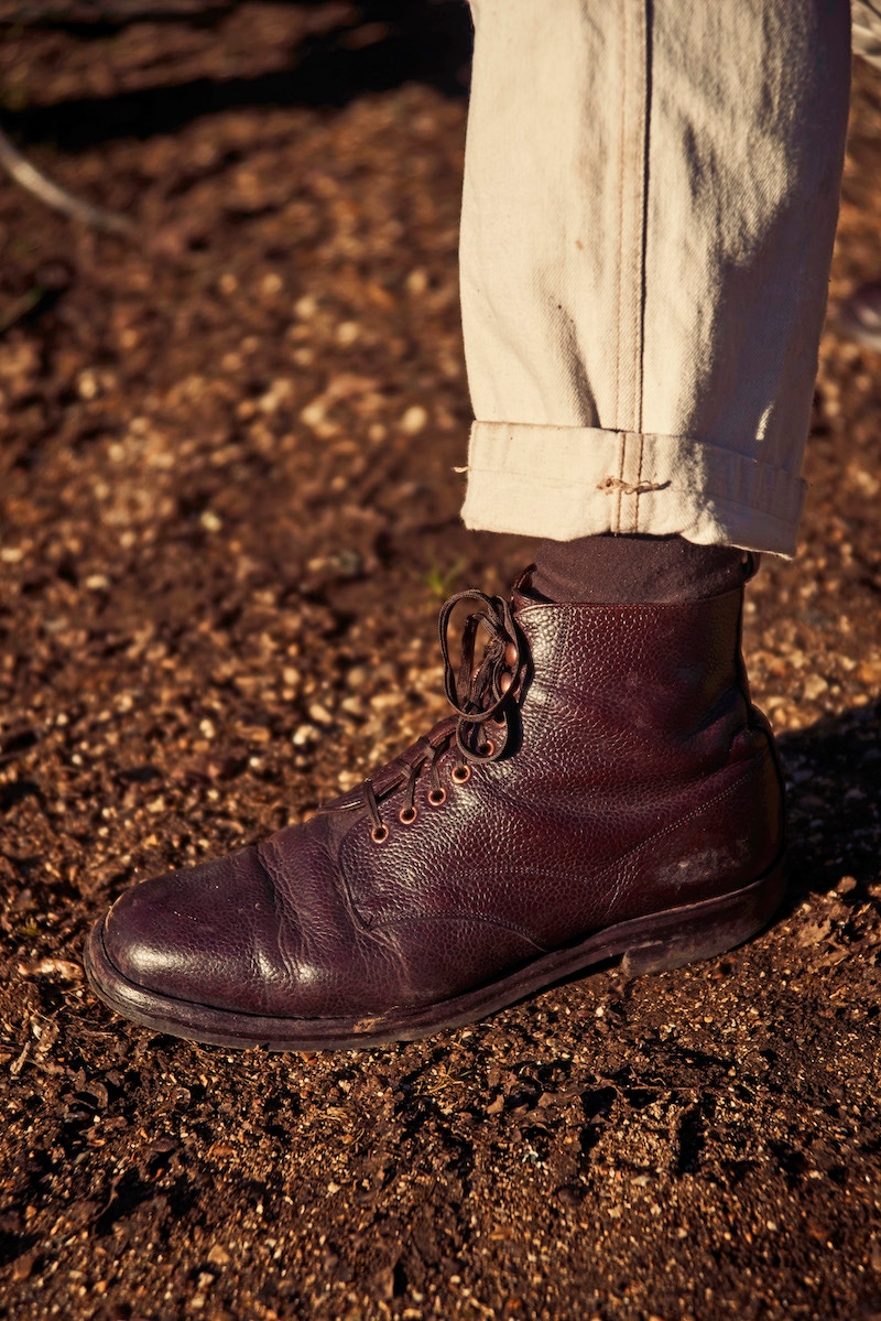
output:
[[[465,526],[568,542],[630,532],[795,553],[807,485],[693,436],[477,421]]]

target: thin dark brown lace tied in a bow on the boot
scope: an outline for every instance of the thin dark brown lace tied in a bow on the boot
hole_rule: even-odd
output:
[[[474,601],[481,606],[472,610],[462,626],[458,667],[453,664],[449,646],[450,616],[460,601]],[[515,699],[515,679],[520,674],[522,643],[509,601],[483,592],[458,592],[444,602],[439,617],[441,654],[444,657],[444,688],[456,712],[456,724],[437,725],[421,737],[407,754],[396,757],[386,768],[382,793],[372,779],[365,779],[358,789],[354,806],[363,806],[371,822],[371,838],[382,844],[388,839],[388,826],[383,820],[382,806],[404,785],[404,801],[398,816],[404,826],[416,820],[416,787],[423,777],[429,777],[428,803],[441,807],[446,802],[446,789],[441,781],[440,758],[456,745],[456,762],[450,778],[465,785],[472,777],[472,766],[498,761],[511,737],[511,712]],[[485,634],[483,655],[476,659],[478,638]],[[491,732],[487,729],[491,725]],[[398,771],[392,779],[388,773]]]

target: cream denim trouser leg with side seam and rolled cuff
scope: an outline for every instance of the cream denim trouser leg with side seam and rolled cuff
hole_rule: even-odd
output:
[[[859,8],[877,54],[877,4]],[[472,11],[466,524],[794,553],[847,0]]]

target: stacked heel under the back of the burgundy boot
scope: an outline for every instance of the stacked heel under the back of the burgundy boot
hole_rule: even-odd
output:
[[[785,889],[783,864],[744,890],[666,914],[667,931],[655,927],[652,939],[625,952],[626,978],[670,972],[697,959],[713,959],[742,945],[767,926]]]

